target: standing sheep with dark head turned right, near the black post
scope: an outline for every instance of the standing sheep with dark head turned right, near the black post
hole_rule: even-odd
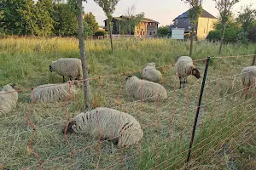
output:
[[[197,79],[201,78],[200,72],[195,65],[193,65],[193,60],[189,56],[181,56],[177,59],[175,63],[176,75],[179,78],[179,88],[185,88],[185,83],[187,82],[187,77],[189,75],[195,76]]]

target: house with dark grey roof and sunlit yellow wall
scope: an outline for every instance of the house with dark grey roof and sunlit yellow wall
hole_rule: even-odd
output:
[[[189,32],[189,10],[183,14],[177,16],[173,21],[172,28],[184,28],[185,32]],[[194,36],[199,40],[206,39],[208,33],[214,30],[213,26],[218,19],[212,14],[208,13],[205,9],[202,10],[201,16],[198,18],[198,22],[195,25]]]

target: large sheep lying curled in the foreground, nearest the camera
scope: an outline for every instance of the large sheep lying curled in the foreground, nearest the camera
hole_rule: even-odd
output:
[[[119,147],[138,144],[143,139],[143,129],[133,116],[106,107],[79,113],[68,123],[67,133],[100,135],[102,139],[114,141]]]

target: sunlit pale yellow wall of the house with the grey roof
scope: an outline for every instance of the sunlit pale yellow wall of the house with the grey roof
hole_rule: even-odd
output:
[[[218,19],[210,18],[199,18],[197,26],[197,39],[205,40],[210,31],[214,30],[213,26],[218,21]]]

